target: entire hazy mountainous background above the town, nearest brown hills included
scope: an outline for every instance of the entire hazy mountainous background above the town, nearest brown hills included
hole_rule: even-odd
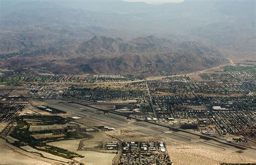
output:
[[[0,69],[150,76],[255,59],[253,0],[0,1]]]

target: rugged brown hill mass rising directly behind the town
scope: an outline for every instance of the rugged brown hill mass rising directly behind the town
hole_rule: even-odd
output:
[[[197,42],[181,42],[150,35],[131,41],[93,37],[73,46],[52,47],[9,58],[5,68],[47,68],[57,74],[118,73],[145,76],[188,73],[220,64],[221,54]]]

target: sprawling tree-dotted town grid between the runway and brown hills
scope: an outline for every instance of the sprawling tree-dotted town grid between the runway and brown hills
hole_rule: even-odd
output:
[[[198,74],[201,80],[191,77],[179,75],[130,82],[134,78],[120,75],[50,76],[8,72],[4,74],[6,81],[17,79],[23,83],[23,88],[30,89],[30,93],[17,96],[2,94],[0,98],[2,103],[22,104],[29,103],[31,98],[91,101],[100,105],[115,105],[116,112],[166,125],[215,125],[215,132],[202,133],[216,137],[220,134],[254,136],[255,67],[230,66]],[[31,82],[40,84],[38,87],[25,86]],[[69,83],[74,84],[71,86]],[[132,108],[129,112],[117,111],[120,107],[116,108],[116,104],[129,104]],[[55,112],[48,107],[39,108]]]

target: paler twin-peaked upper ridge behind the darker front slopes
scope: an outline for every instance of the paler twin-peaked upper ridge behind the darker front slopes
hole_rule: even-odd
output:
[[[217,48],[210,48],[196,41],[177,42],[157,38],[153,35],[139,37],[131,41],[121,38],[93,37],[76,48],[82,55],[121,54],[121,53],[152,53],[152,52],[197,52],[198,54],[219,55]]]

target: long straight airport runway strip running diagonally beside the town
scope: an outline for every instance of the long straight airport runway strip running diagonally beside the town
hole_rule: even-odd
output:
[[[182,130],[170,131],[170,129],[166,126],[161,126],[159,124],[157,125],[146,121],[136,121],[135,119],[127,119],[125,116],[119,114],[110,112],[106,113],[106,111],[77,103],[69,103],[60,100],[45,101],[45,103],[49,107],[65,111],[88,120],[96,121],[102,125],[119,128],[146,136],[158,135],[163,138],[170,138],[173,141],[185,142],[187,144],[200,146],[221,153],[235,153],[239,155],[239,153],[236,152],[242,150],[241,155],[255,159],[253,154],[255,149],[229,144],[225,140],[222,141],[220,139],[219,142],[215,139],[205,140],[200,138],[200,134],[197,135],[194,133],[184,132]]]

